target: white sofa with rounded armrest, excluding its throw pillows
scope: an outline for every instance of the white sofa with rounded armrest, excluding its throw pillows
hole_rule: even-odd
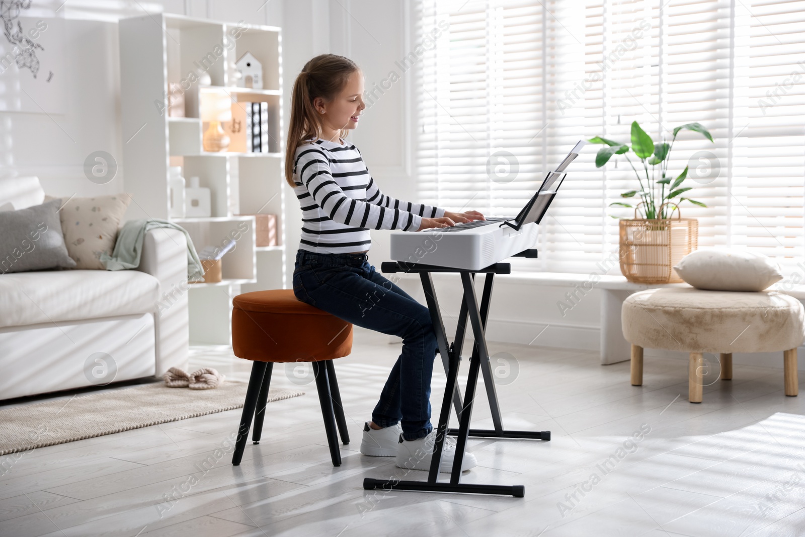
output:
[[[36,177],[0,178],[0,206],[43,203]],[[147,233],[135,271],[0,274],[0,399],[188,367],[187,244]]]

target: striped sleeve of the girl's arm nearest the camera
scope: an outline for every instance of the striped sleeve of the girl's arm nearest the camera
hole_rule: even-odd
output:
[[[302,204],[308,196],[328,217],[341,224],[370,229],[402,229],[416,231],[421,216],[403,209],[382,207],[366,201],[354,200],[332,180],[330,163],[319,149],[311,148],[299,153],[295,170],[308,192],[299,196]]]

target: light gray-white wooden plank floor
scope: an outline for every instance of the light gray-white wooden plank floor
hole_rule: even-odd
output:
[[[250,363],[225,349],[193,350],[192,366],[248,378]],[[647,357],[645,385],[634,387],[628,362],[490,343],[519,366],[497,386],[504,425],[553,440],[470,440],[479,466],[462,481],[525,485],[525,498],[365,491],[364,477],[403,476],[393,459],[358,451],[398,352],[356,330],[353,355],[336,362],[352,438],[339,468],[311,383],[270,403],[263,441],[247,444],[239,467],[229,440],[240,410],[27,453],[0,477],[0,535],[805,535],[805,395],[783,394],[782,368],[735,366],[733,381],[691,404],[687,361]],[[438,361],[435,371],[434,423]],[[272,386],[295,385],[277,366]],[[473,426],[491,428],[478,401]]]

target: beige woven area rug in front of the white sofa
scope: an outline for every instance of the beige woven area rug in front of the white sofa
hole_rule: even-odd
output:
[[[213,390],[190,390],[154,382],[2,409],[0,455],[242,408],[247,386],[226,381]],[[271,389],[268,402],[303,394]]]

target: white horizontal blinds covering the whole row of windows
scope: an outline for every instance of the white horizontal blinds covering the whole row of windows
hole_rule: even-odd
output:
[[[805,2],[412,5],[415,36],[432,40],[415,65],[423,202],[514,216],[578,139],[630,143],[638,121],[670,142],[675,126],[700,122],[715,143],[683,130],[669,165],[689,166],[687,194],[708,205],[682,205],[700,246],[803,261]],[[613,216],[632,211],[609,204],[637,180],[619,157],[596,168],[597,148],[543,219],[540,258],[515,259],[516,270],[586,273],[617,252]]]

